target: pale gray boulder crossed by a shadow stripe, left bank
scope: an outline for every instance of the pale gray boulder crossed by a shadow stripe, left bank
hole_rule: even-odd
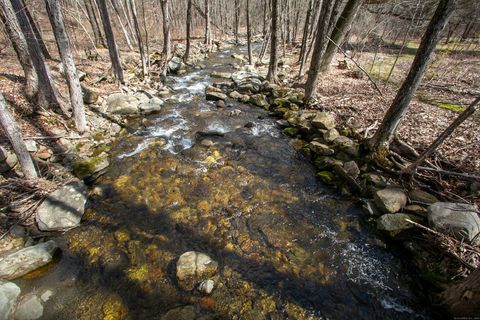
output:
[[[87,188],[83,182],[63,186],[51,193],[38,208],[38,228],[42,231],[56,231],[79,226],[86,202]]]

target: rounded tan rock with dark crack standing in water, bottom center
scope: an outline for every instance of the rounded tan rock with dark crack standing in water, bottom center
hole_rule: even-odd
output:
[[[188,251],[177,261],[177,279],[185,290],[192,290],[196,284],[213,276],[218,263],[204,253]]]

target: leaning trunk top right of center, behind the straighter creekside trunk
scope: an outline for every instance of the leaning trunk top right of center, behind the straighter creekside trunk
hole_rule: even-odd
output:
[[[338,18],[338,21],[333,29],[332,36],[330,37],[333,42],[341,46],[345,35],[347,34],[348,29],[350,28],[353,19],[357,15],[360,6],[362,5],[363,0],[349,0],[343,9],[342,14]],[[328,42],[327,50],[323,54],[322,62],[320,65],[320,72],[328,72],[330,64],[332,63],[335,52],[337,51],[336,46],[332,41]]]

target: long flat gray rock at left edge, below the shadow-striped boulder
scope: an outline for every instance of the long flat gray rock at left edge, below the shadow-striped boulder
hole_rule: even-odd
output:
[[[2,257],[0,279],[15,279],[44,266],[52,260],[57,248],[55,241],[50,240]]]

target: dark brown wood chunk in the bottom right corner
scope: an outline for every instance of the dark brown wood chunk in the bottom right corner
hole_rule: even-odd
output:
[[[440,294],[440,302],[454,317],[468,319],[480,313],[480,269],[473,271],[461,283]]]

